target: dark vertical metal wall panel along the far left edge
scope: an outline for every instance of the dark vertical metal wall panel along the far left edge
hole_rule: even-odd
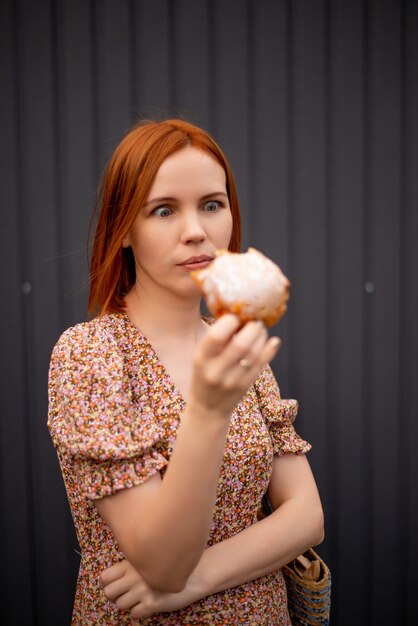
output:
[[[2,319],[0,334],[0,582],[2,599],[0,621],[12,623],[15,616],[16,590],[25,599],[21,619],[30,624],[36,607],[33,518],[31,509],[30,453],[27,406],[26,337],[23,306],[27,297],[22,291],[25,277],[22,267],[20,228],[21,202],[19,39],[16,7],[13,2],[0,5],[0,153],[2,244],[0,246],[0,283],[2,309],[9,314]],[[8,599],[11,599],[9,601]]]

